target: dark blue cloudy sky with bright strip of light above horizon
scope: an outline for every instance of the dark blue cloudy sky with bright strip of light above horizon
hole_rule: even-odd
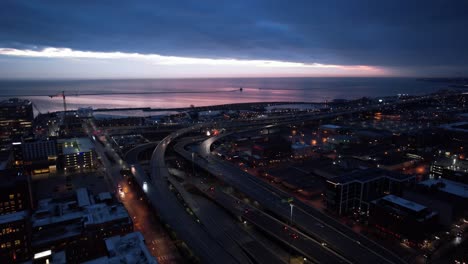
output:
[[[3,0],[0,79],[468,76],[465,0]]]

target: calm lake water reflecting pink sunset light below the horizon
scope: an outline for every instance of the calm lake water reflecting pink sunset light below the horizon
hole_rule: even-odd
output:
[[[240,87],[243,92],[239,91]],[[47,112],[63,110],[61,97],[49,97],[61,91],[68,94],[68,109],[77,109],[88,106],[173,108],[247,102],[324,102],[399,93],[417,95],[446,87],[444,83],[411,78],[3,80],[0,81],[0,97],[28,98],[41,112]],[[148,92],[155,94],[118,94]]]

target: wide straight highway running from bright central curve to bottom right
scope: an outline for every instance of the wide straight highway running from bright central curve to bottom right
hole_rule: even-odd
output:
[[[199,166],[206,167],[213,175],[231,184],[257,200],[262,206],[275,212],[283,219],[290,217],[290,206],[282,201],[289,195],[229,162],[218,160],[208,152],[216,138],[206,140],[200,150],[205,159],[198,159]],[[405,263],[392,252],[356,234],[348,227],[314,208],[296,201],[294,223],[307,234],[323,240],[338,254],[355,263]],[[319,225],[318,225],[318,224]]]

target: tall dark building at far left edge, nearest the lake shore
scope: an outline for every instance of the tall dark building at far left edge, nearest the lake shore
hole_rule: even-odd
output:
[[[32,133],[34,119],[31,101],[11,98],[0,102],[0,150]]]

